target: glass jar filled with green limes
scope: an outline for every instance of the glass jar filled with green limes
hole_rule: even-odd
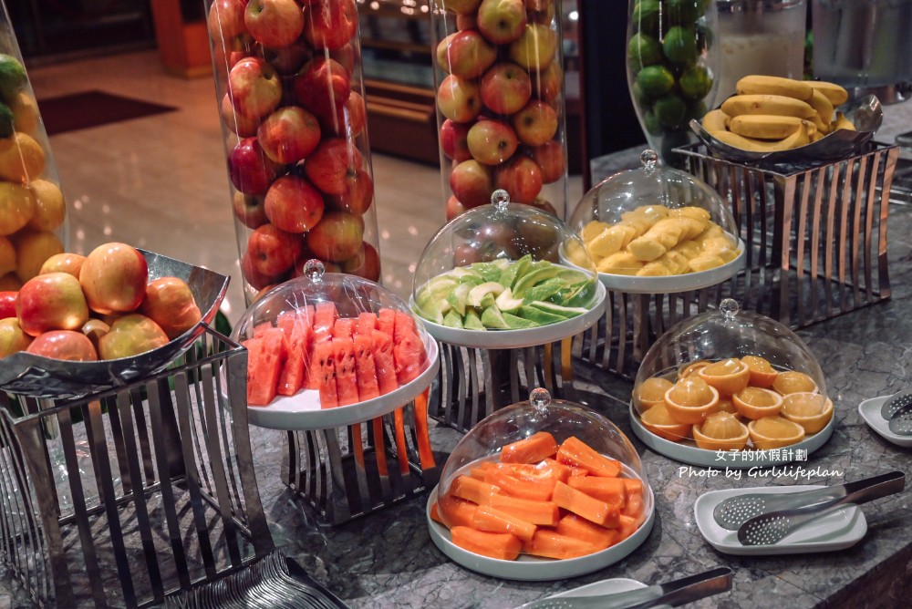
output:
[[[630,0],[627,84],[649,146],[663,161],[697,141],[690,119],[702,119],[716,92],[713,0]]]

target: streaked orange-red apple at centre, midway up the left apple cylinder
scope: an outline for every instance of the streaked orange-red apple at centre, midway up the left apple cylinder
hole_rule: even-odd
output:
[[[320,125],[306,109],[286,106],[264,119],[256,130],[256,139],[267,157],[290,165],[304,160],[316,149],[320,143]]]

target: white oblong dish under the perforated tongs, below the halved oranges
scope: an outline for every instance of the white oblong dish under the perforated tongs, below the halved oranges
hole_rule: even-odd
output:
[[[694,518],[700,533],[710,545],[726,554],[770,555],[798,554],[803,552],[833,552],[844,550],[861,541],[867,532],[865,513],[856,505],[845,507],[810,521],[792,534],[773,545],[741,545],[738,532],[720,527],[712,518],[712,511],[724,499],[749,492],[798,492],[800,490],[819,489],[819,484],[800,484],[795,486],[757,487],[752,489],[710,490],[705,492],[693,505]]]

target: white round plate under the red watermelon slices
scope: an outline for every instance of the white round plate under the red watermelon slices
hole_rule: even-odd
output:
[[[437,341],[424,337],[428,367],[419,377],[380,397],[337,408],[320,408],[320,392],[305,389],[294,396],[276,397],[268,406],[248,406],[247,420],[251,425],[270,429],[322,429],[353,425],[381,417],[419,397],[437,376],[440,351]]]

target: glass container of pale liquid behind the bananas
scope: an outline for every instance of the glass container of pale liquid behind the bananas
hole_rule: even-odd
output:
[[[804,77],[804,0],[716,0],[719,9],[717,98],[735,94],[751,74]]]

